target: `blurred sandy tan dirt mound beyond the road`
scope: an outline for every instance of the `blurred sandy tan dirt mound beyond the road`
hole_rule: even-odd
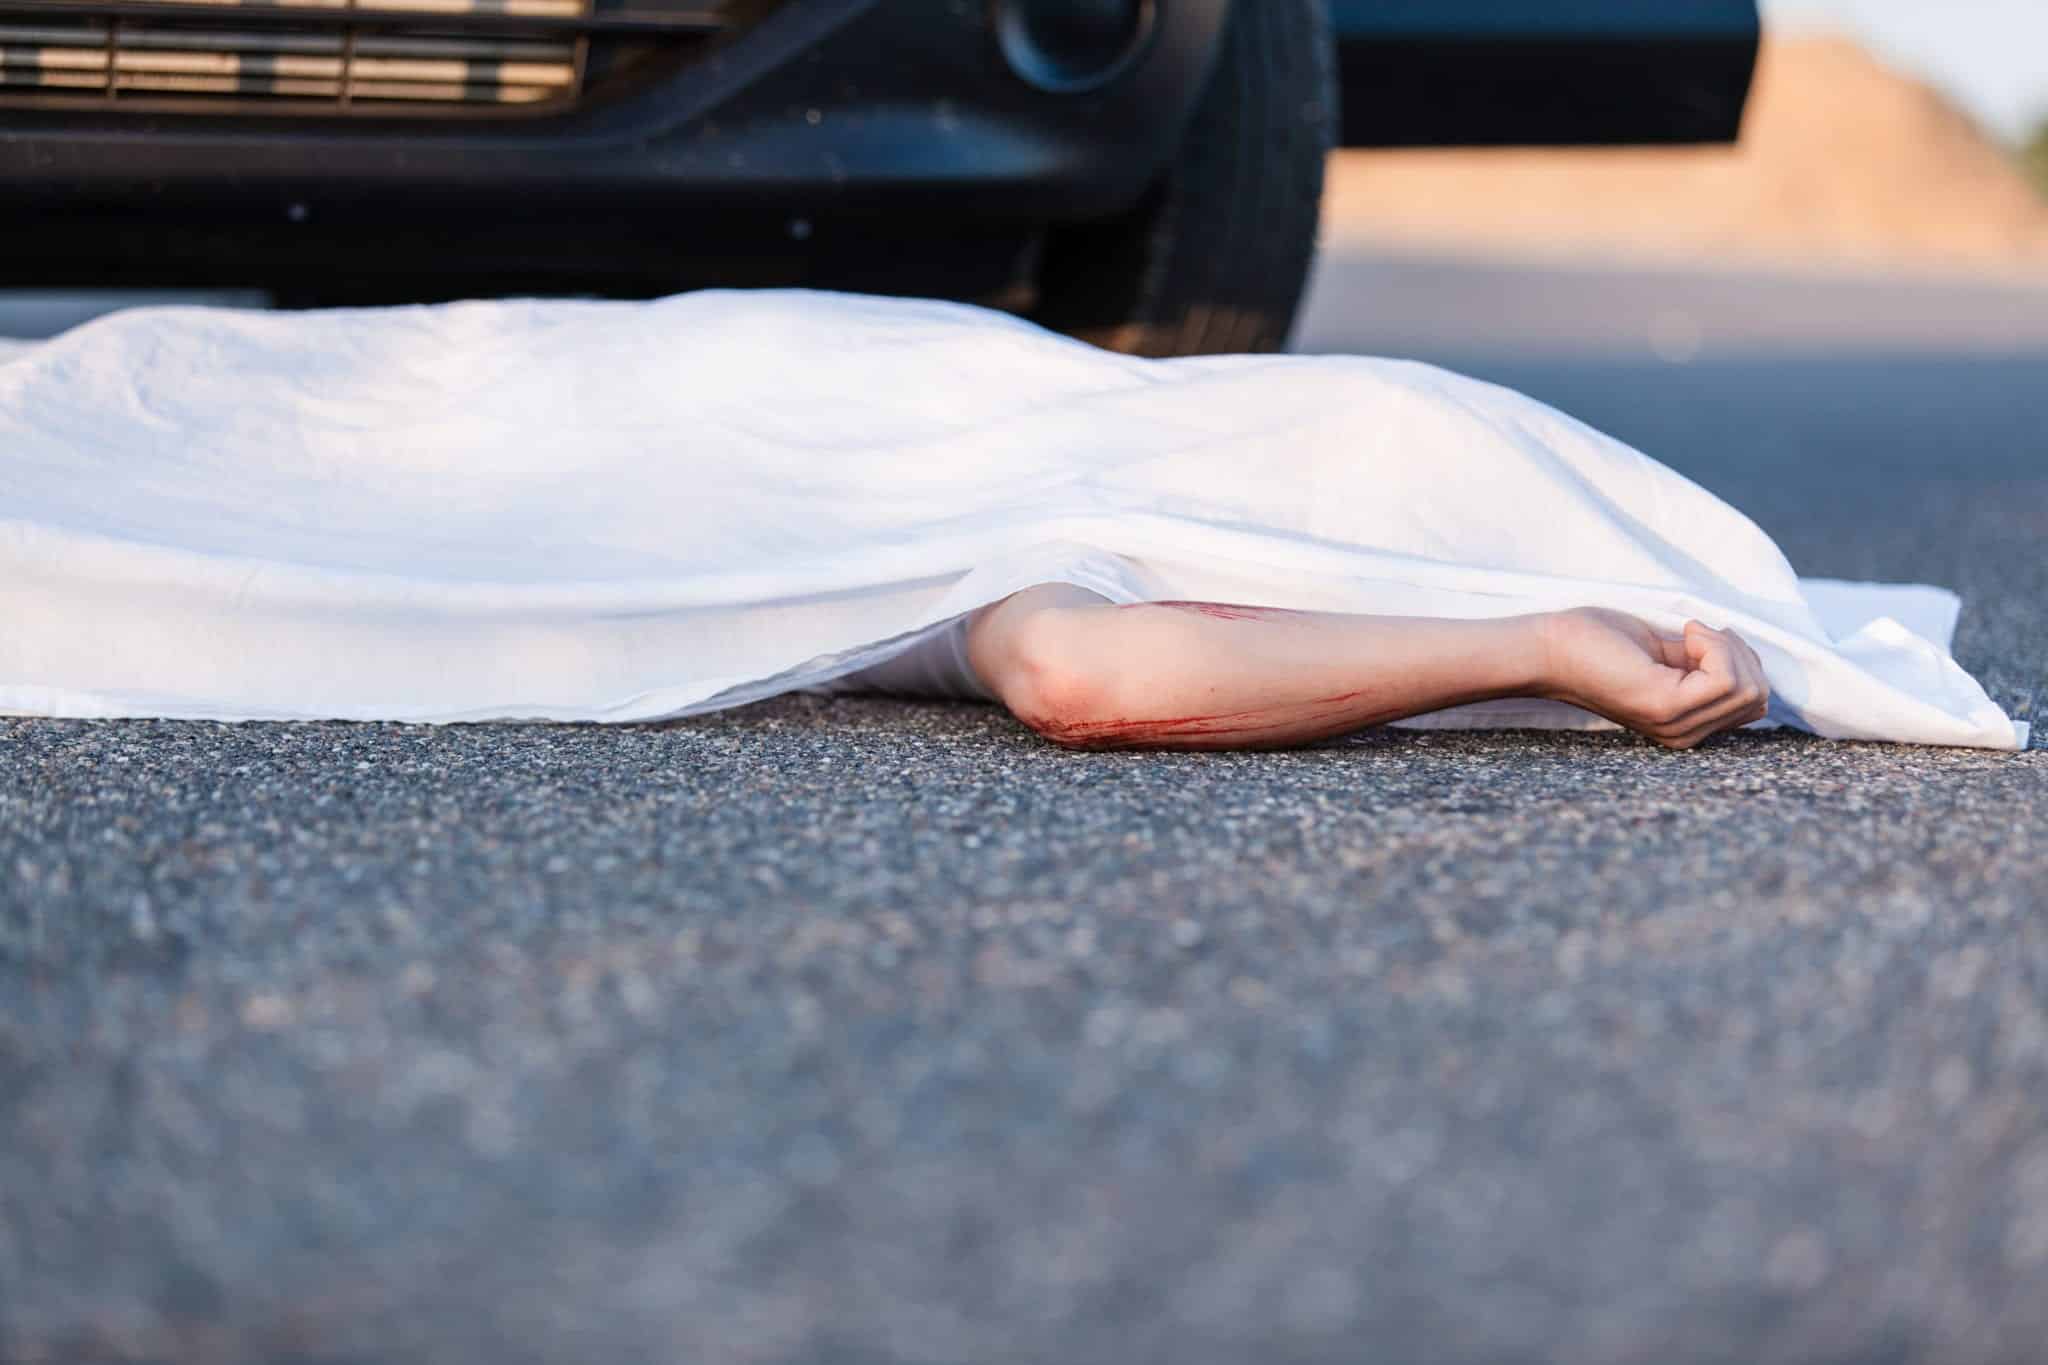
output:
[[[1937,90],[1774,37],[1737,147],[1343,151],[1325,241],[2032,274],[2048,203]]]

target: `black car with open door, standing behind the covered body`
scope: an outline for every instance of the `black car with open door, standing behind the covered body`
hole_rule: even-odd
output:
[[[1755,0],[0,0],[0,284],[815,284],[1278,346],[1333,141],[1716,141]]]

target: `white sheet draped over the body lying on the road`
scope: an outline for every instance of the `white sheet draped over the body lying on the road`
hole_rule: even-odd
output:
[[[1120,602],[1735,626],[1774,720],[2023,745],[1958,602],[1403,360],[1149,362],[956,305],[139,309],[0,360],[0,710],[647,720],[1040,581]],[[1493,702],[1419,724],[1606,724]]]

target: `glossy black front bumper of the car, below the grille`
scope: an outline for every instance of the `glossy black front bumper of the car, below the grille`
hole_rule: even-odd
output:
[[[0,196],[489,190],[858,205],[1010,190],[1053,213],[1135,199],[1200,94],[1227,0],[1174,0],[1114,88],[1010,76],[975,6],[788,0],[668,80],[545,119],[264,119],[0,111]],[[0,4],[4,8],[4,4]],[[651,196],[651,199],[649,199]]]

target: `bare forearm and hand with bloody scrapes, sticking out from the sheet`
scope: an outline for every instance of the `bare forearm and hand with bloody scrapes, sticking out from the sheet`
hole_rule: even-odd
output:
[[[1114,606],[1047,583],[975,616],[969,659],[1071,749],[1274,749],[1495,698],[1546,698],[1671,749],[1763,716],[1733,630],[1681,639],[1604,608],[1438,620],[1229,602]]]

